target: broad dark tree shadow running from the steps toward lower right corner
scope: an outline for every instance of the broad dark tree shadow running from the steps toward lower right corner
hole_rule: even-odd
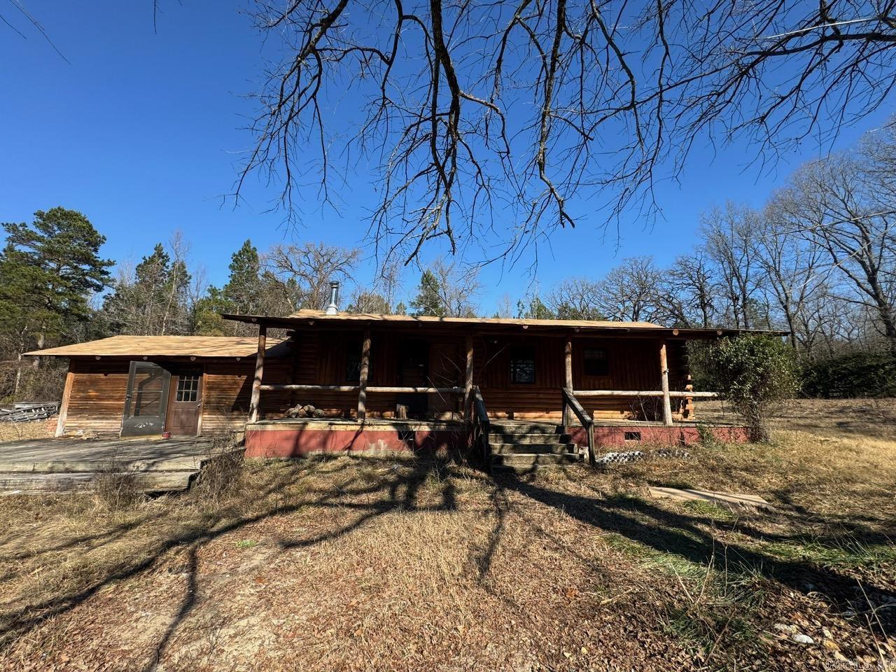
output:
[[[862,595],[863,589],[874,605],[896,603],[896,594],[892,590],[860,586],[855,579],[835,569],[781,559],[744,544],[722,544],[701,527],[705,518],[668,511],[638,497],[573,495],[513,474],[501,474],[495,477],[495,482],[498,487],[552,506],[598,530],[692,563],[744,575],[759,575],[799,593],[820,592],[837,609],[855,609],[857,595]],[[883,609],[877,614],[885,635],[896,633],[894,611]]]

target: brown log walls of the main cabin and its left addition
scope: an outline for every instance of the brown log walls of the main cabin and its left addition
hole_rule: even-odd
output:
[[[361,331],[307,330],[293,340],[294,357],[267,358],[264,383],[354,385],[348,380],[349,353],[360,352]],[[426,341],[426,375],[420,381],[401,380],[401,353]],[[466,366],[465,336],[459,334],[424,336],[415,332],[373,331],[368,386],[426,384],[432,387],[463,387]],[[564,343],[561,336],[476,336],[473,339],[473,383],[494,418],[560,418],[564,386]],[[512,383],[510,353],[514,346],[531,347],[536,356],[535,383]],[[606,376],[583,375],[586,347],[607,349]],[[688,382],[684,341],[668,342],[669,386],[684,390]],[[165,359],[156,359],[164,366]],[[177,365],[177,360],[168,362]],[[68,399],[65,433],[79,430],[117,434],[127,391],[126,358],[72,358],[72,386]],[[252,392],[254,358],[212,359],[202,364],[202,434],[242,430],[246,423]],[[421,369],[422,370],[422,369]],[[659,390],[659,340],[650,338],[573,338],[573,387],[577,390]],[[461,395],[428,394],[428,417],[461,418]],[[401,395],[369,392],[367,415],[393,418]],[[582,398],[582,405],[598,418],[661,418],[660,400]],[[328,416],[357,416],[357,392],[262,392],[261,418],[280,418],[297,403],[313,404]],[[693,405],[673,400],[676,418],[693,417]]]

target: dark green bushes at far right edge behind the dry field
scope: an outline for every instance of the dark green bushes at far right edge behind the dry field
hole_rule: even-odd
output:
[[[896,396],[896,358],[883,352],[850,352],[803,367],[806,397]]]

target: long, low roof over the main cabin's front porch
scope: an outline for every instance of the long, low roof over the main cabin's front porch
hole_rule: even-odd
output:
[[[601,332],[606,335],[642,334],[679,338],[716,338],[735,335],[745,331],[785,335],[787,332],[742,329],[685,329],[669,328],[650,322],[612,322],[607,320],[530,320],[503,317],[433,317],[416,315],[392,315],[378,313],[337,313],[326,314],[323,310],[299,310],[296,313],[276,317],[272,315],[222,314],[228,320],[244,323],[265,324],[271,327],[294,328],[328,324],[343,327],[414,326],[461,331],[516,332],[528,330],[538,332]]]

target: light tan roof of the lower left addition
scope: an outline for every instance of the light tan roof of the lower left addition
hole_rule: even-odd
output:
[[[267,357],[288,352],[285,339],[269,339]],[[258,351],[254,336],[111,336],[59,348],[32,350],[32,357],[195,357],[249,358]]]

